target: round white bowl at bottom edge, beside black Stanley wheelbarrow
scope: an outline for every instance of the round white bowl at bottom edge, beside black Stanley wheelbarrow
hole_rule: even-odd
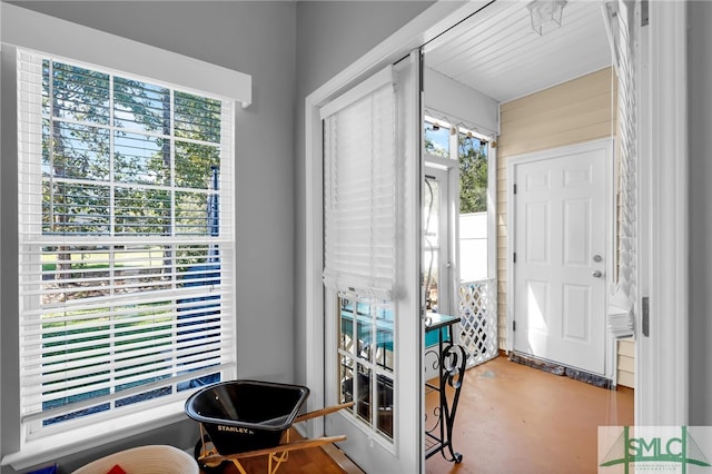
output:
[[[168,445],[139,446],[93,461],[73,474],[107,474],[118,465],[127,474],[199,474],[191,455]]]

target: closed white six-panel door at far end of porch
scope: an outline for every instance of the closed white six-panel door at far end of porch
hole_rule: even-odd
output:
[[[513,165],[514,349],[605,373],[610,141]]]

